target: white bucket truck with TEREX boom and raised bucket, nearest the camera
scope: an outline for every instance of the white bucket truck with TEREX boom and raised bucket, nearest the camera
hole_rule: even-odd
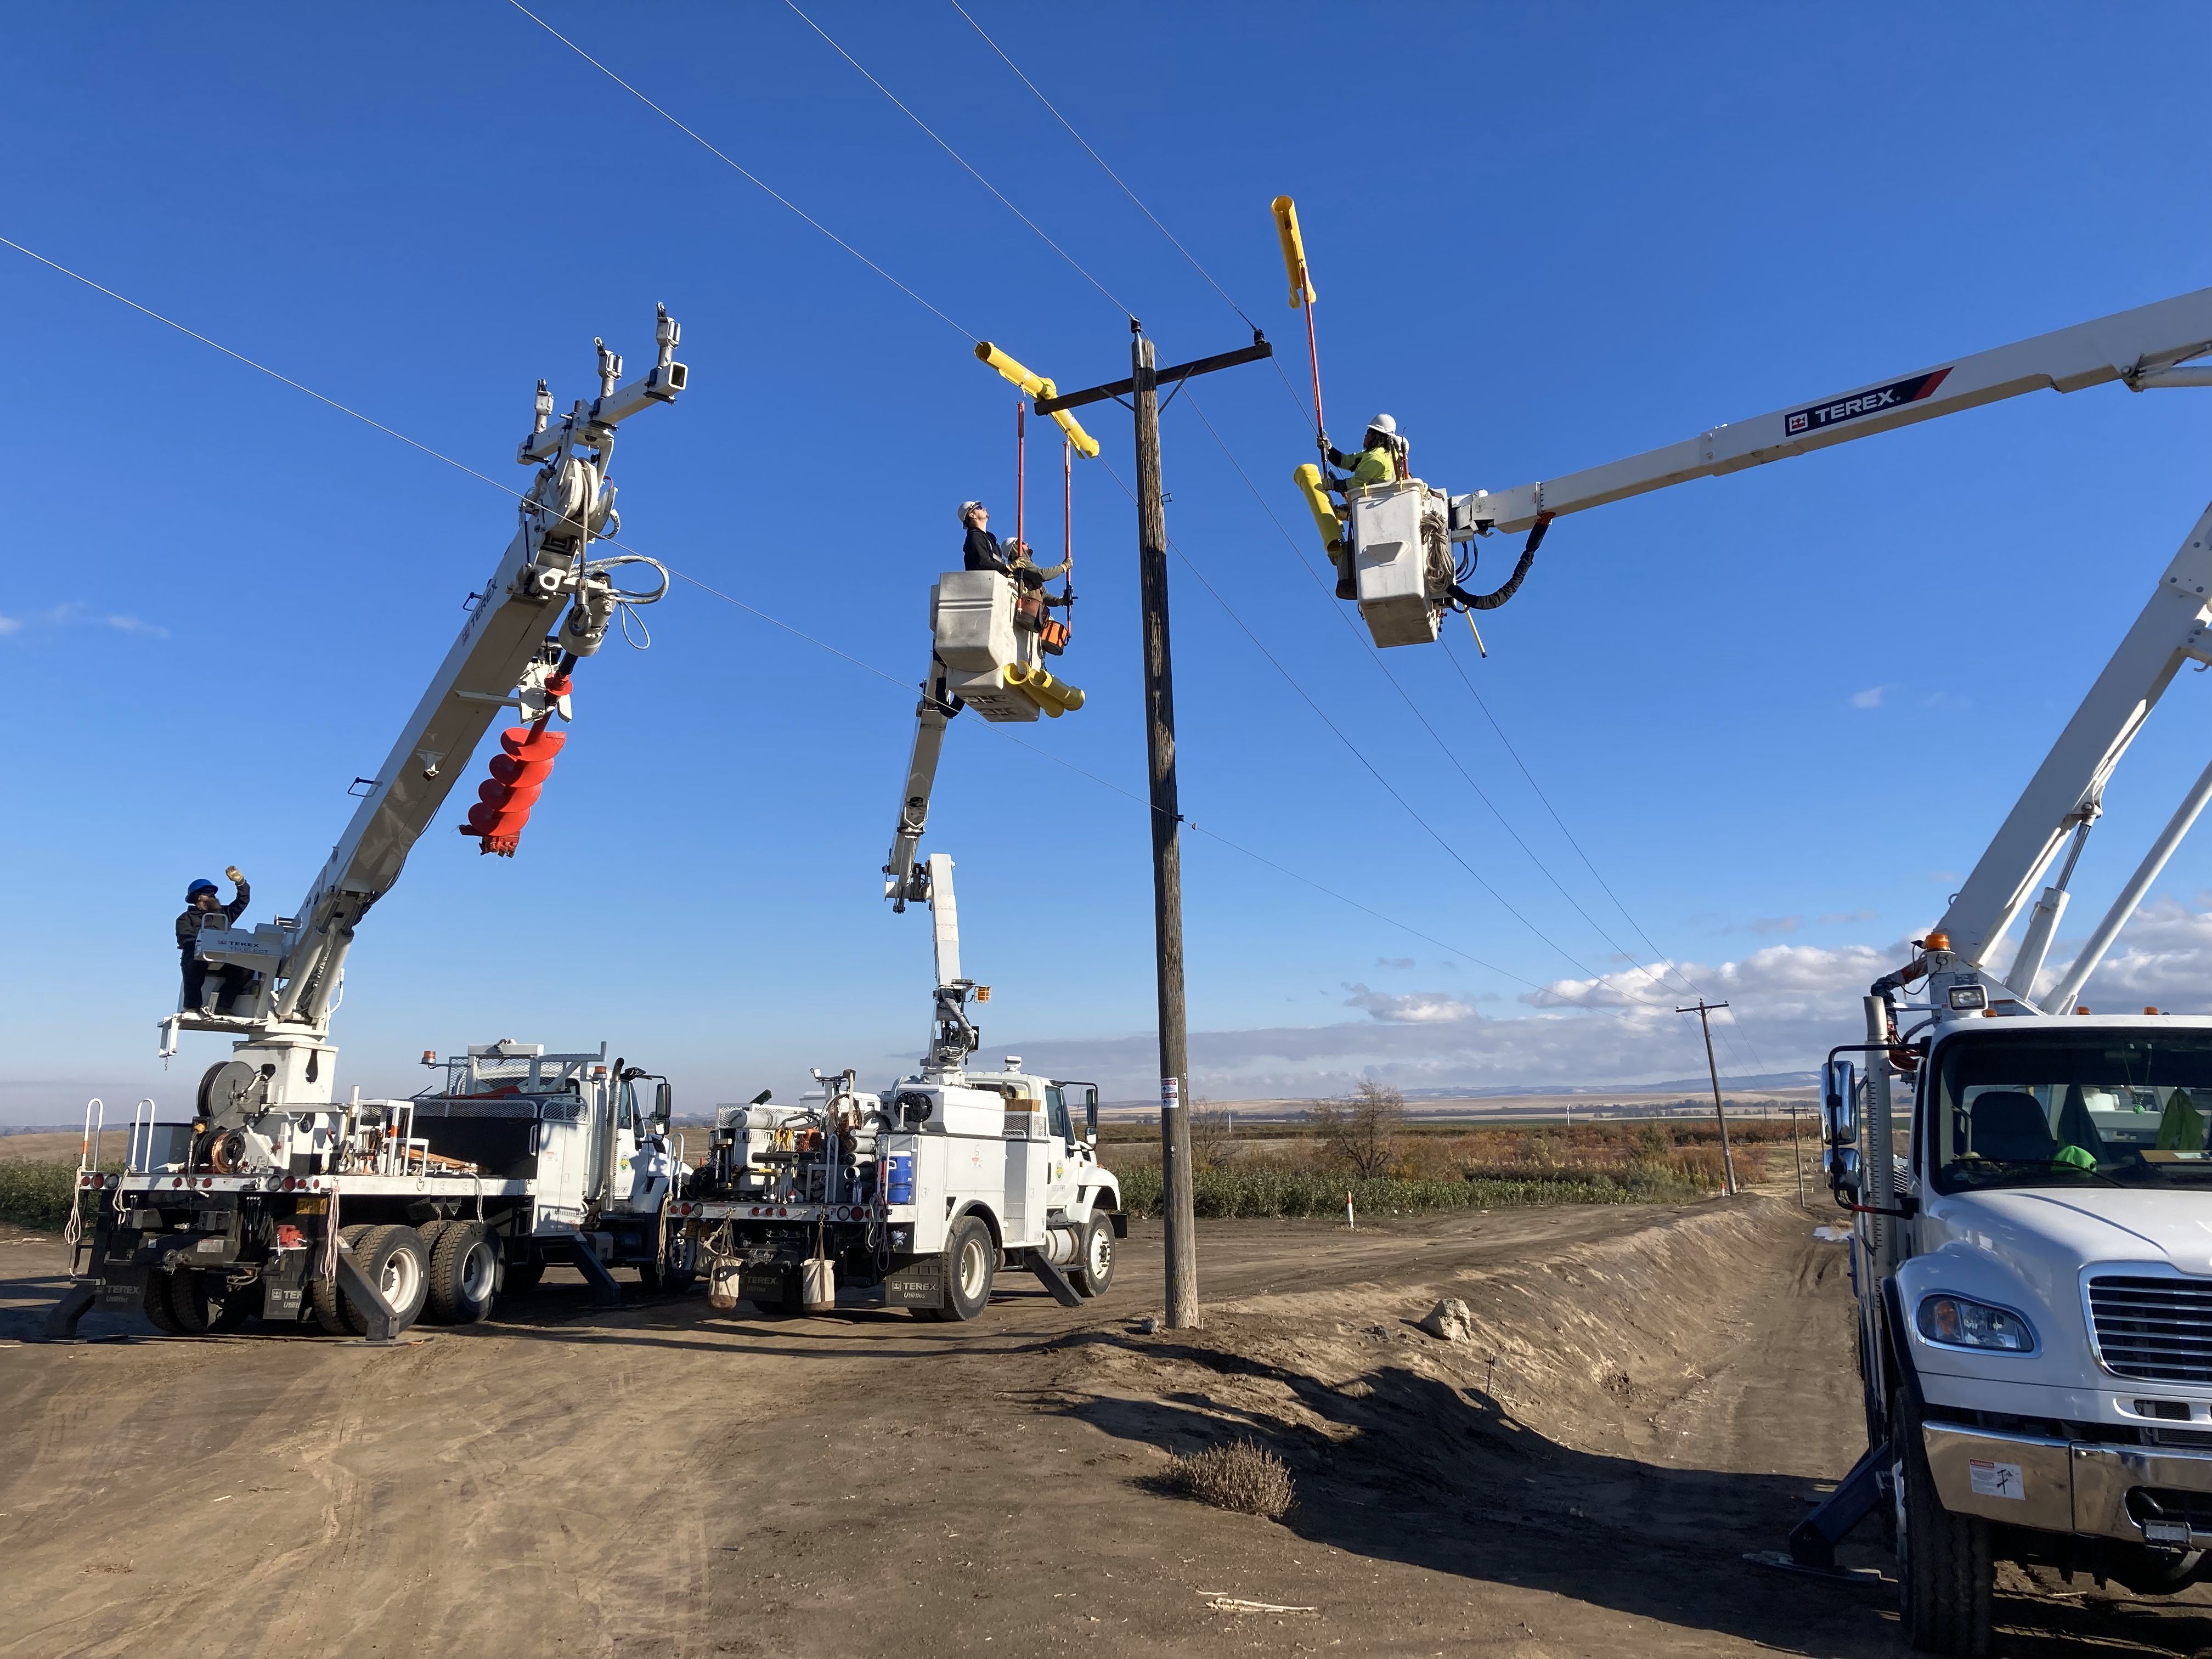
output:
[[[2192,361],[2208,352],[2212,290],[2199,290],[1606,467],[1453,495],[1449,535],[1540,531],[2042,387],[2212,387],[2212,363]],[[1400,608],[1391,626],[1433,639],[1438,606],[1409,564],[1405,495],[1385,484],[1354,504],[1363,611],[1411,595],[1429,622],[1405,624]],[[2212,509],[1942,920],[1871,987],[1865,1037],[1840,1044],[1823,1075],[1832,1186],[1854,1214],[1869,1451],[1772,1559],[1832,1568],[1836,1544],[1878,1515],[1905,1630],[1929,1652],[1989,1650],[1997,1559],[2137,1593],[2212,1577],[2212,1018],[2077,1002],[2212,799],[2212,768],[2073,962],[2046,969],[2106,783],[2174,675],[2212,664],[2208,597]]]

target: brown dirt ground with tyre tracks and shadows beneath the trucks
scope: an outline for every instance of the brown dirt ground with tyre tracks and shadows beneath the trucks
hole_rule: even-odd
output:
[[[0,1655],[1893,1655],[1887,1588],[1741,1559],[1863,1444],[1825,1219],[1201,1223],[1199,1332],[1137,1332],[1150,1225],[1104,1301],[964,1327],[566,1274],[396,1349],[95,1316],[0,1347]],[[0,1230],[0,1340],[60,1261]],[[1281,1522],[1152,1489],[1232,1436]],[[2006,1652],[2212,1646],[2203,1593],[2059,1590],[2006,1571]]]

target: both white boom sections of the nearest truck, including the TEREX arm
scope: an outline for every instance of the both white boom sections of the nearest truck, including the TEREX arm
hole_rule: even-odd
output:
[[[2205,352],[2212,352],[2212,288],[2101,316],[2095,323],[2037,334],[2031,341],[2000,345],[1913,374],[1874,380],[1732,427],[1712,427],[1697,438],[1648,449],[1604,467],[1588,467],[1520,489],[1455,495],[1451,500],[1451,538],[1533,531],[1540,522],[1562,513],[1579,513],[1586,507],[1644,495],[1692,478],[1717,478],[2044,387],[2079,392],[2108,380],[2119,380],[2130,392],[2212,387],[2212,365],[2188,363]],[[2212,664],[2208,593],[2212,593],[2212,509],[2183,538],[2135,626],[2128,628],[2112,659],[2097,675],[2051,754],[2044,757],[2017,805],[1975,863],[1973,874],[1966,876],[1966,885],[1944,911],[1940,931],[1949,933],[1953,953],[1969,964],[1984,967],[2062,845],[2073,836],[2073,852],[2059,878],[2037,898],[2006,975],[2011,991],[2024,1006],[2035,1006],[2031,1002],[2035,975],[2042,971],[2044,953],[2051,949],[2064,914],[2066,883],[2073,876],[2081,841],[2101,812],[2104,785],[2112,776],[2112,768],[2119,765],[2119,757],[2126,754],[2128,743],[2135,741],[2181,664],[2188,659]],[[2075,958],[2064,980],[2046,993],[2044,1002],[2055,1009],[2070,1006],[2208,799],[2212,799],[2212,772],[2177,807],[2104,925],[2097,927],[2088,947]]]

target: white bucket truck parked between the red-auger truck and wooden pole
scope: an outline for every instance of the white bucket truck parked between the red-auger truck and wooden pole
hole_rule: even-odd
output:
[[[1018,1055],[1002,1071],[967,1071],[982,1042],[969,1006],[989,1002],[991,987],[960,973],[953,860],[916,860],[945,728],[960,708],[987,721],[1082,708],[1084,695],[1044,668],[1055,646],[1024,626],[1024,593],[998,571],[947,571],[929,591],[929,677],[883,867],[894,911],[929,905],[929,1053],[878,1095],[860,1093],[852,1071],[816,1071],[821,1088],[796,1106],[763,1093],[717,1108],[708,1159],[672,1203],[681,1234],[670,1261],[703,1267],[719,1307],[743,1298],[825,1310],[843,1283],[849,1301],[964,1321],[991,1301],[1006,1263],[1035,1272],[1066,1305],[1113,1283],[1128,1221],[1121,1183],[1097,1159],[1097,1088],[1031,1075]]]

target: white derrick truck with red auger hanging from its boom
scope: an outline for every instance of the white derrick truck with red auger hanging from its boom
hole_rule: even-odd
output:
[[[493,719],[518,708],[465,836],[511,856],[571,712],[571,672],[595,655],[624,606],[659,599],[668,573],[637,553],[597,557],[615,535],[606,480],[615,429],[684,392],[679,327],[661,307],[659,352],[622,378],[604,341],[599,396],[553,420],[538,383],[518,462],[535,469],[520,524],[467,622],[294,916],[206,927],[199,956],[217,969],[210,1000],[161,1022],[234,1037],[230,1060],[199,1082],[188,1133],[135,1124],[131,1168],[80,1175],[97,1223],[75,1248],[71,1287],[46,1321],[75,1332],[93,1307],[142,1310],[164,1332],[228,1329],[250,1316],[319,1321],[389,1340],[418,1314],[476,1321],[500,1285],[520,1287],[549,1261],[571,1261],[599,1294],[606,1263],[666,1272],[664,1208],[675,1177],[670,1095],[648,1073],[597,1053],[487,1044],[447,1062],[447,1079],[414,1099],[334,1097],[345,953],[392,891],[407,854],[445,805]],[[653,588],[617,586],[650,566]],[[221,916],[215,916],[221,920]],[[243,982],[241,989],[232,989]],[[425,1064],[436,1064],[425,1055]]]

